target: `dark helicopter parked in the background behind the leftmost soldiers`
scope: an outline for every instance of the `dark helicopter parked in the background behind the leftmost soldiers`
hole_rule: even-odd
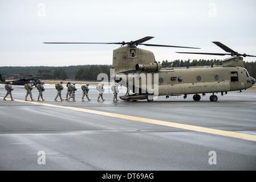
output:
[[[3,75],[22,76],[23,78],[6,81]],[[13,85],[25,85],[25,84],[29,84],[30,80],[32,80],[33,86],[35,86],[36,84],[42,84],[42,81],[39,78],[42,78],[42,76],[19,75],[14,73],[0,73],[0,84],[9,84],[10,82],[13,82]]]

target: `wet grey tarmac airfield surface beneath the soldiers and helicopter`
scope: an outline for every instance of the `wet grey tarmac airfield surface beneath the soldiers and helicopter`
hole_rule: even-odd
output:
[[[239,137],[256,136],[256,90],[218,94],[218,102],[210,102],[210,94],[200,102],[192,96],[112,102],[111,93],[96,102],[91,86],[92,101],[82,102],[78,86],[77,102],[55,102],[54,86],[45,87],[41,105],[22,102],[22,86],[13,92],[20,101],[0,100],[1,170],[256,169],[256,142]],[[38,96],[36,89],[32,93]],[[175,127],[179,124],[188,129]],[[194,131],[194,126],[202,129]],[[231,131],[238,138],[208,129]],[[38,164],[38,151],[45,151],[45,165]],[[216,152],[216,165],[209,164],[210,151]]]

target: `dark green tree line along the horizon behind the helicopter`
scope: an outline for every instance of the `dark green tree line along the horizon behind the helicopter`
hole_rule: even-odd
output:
[[[206,65],[222,65],[222,60],[173,60],[159,61],[163,68],[170,67],[194,67]],[[112,65],[77,65],[69,67],[0,67],[0,73],[15,73],[20,75],[41,76],[43,80],[86,80],[96,81],[99,73],[106,73],[109,77],[109,69]],[[256,61],[245,62],[245,68],[251,77],[256,78]]]

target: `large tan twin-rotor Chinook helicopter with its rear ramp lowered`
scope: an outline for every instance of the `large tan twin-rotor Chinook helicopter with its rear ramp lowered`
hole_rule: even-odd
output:
[[[121,47],[113,50],[113,68],[115,69],[116,82],[120,81],[120,73],[128,77],[129,73],[144,73],[146,75],[158,73],[157,96],[181,96],[184,99],[188,94],[194,94],[194,101],[200,101],[201,96],[211,93],[210,101],[216,102],[218,97],[215,93],[227,94],[233,90],[243,90],[250,88],[255,79],[249,76],[249,73],[243,68],[243,57],[252,55],[240,54],[226,47],[220,42],[213,42],[217,46],[229,53],[201,53],[201,52],[178,52],[178,53],[196,53],[205,55],[231,55],[231,57],[222,61],[221,66],[206,67],[184,67],[184,68],[161,68],[161,65],[155,60],[153,52],[138,48],[139,45],[157,46],[157,47],[177,47],[177,48],[194,48],[180,46],[166,46],[158,44],[144,44],[145,41],[152,39],[147,36],[131,42],[117,43],[64,43],[64,44],[120,44]],[[62,44],[62,43],[55,43]],[[127,46],[125,46],[127,45]],[[119,80],[119,81],[117,81]],[[134,84],[134,82],[133,82]],[[147,83],[146,83],[147,84]],[[127,88],[130,85],[126,85]],[[135,85],[132,85],[135,93]],[[145,90],[141,89],[145,88]],[[154,93],[153,93],[154,94]],[[139,93],[127,94],[120,96],[125,101],[145,100],[153,101],[152,92],[149,93],[148,87],[143,86],[140,82]]]

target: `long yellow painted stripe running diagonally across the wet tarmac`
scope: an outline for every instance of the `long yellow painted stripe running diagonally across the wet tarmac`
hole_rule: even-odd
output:
[[[130,121],[137,121],[137,122],[143,122],[143,123],[151,123],[151,124],[155,124],[155,125],[175,127],[175,128],[178,128],[178,129],[198,131],[198,132],[201,132],[201,133],[221,135],[221,136],[224,136],[224,137],[232,137],[232,138],[238,138],[238,139],[244,139],[244,140],[250,140],[250,141],[256,142],[256,135],[245,134],[245,133],[237,133],[237,132],[234,132],[234,131],[210,129],[208,127],[185,125],[185,124],[180,124],[180,123],[161,121],[161,120],[157,120],[157,119],[148,119],[148,118],[135,117],[135,116],[131,116],[131,115],[108,113],[108,112],[105,112],[105,111],[83,109],[83,108],[79,108],[79,107],[60,106],[60,105],[54,105],[54,104],[47,104],[47,103],[44,103],[44,102],[35,102],[35,101],[31,102],[31,101],[22,101],[22,100],[15,100],[15,101],[24,102],[24,103],[28,103],[28,104],[34,104],[34,105],[41,105],[41,106],[48,106],[48,107],[56,107],[56,108],[60,108],[60,109],[80,111],[80,112],[83,112],[83,113],[104,115],[104,116],[107,116],[107,117],[127,119],[127,120],[130,120]]]

